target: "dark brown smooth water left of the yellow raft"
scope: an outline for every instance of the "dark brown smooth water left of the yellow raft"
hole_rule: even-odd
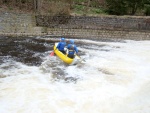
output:
[[[35,37],[0,37],[0,63],[13,59],[27,65],[40,65],[41,57],[52,50],[53,44]]]

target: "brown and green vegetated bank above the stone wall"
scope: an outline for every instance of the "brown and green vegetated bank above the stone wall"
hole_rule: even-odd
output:
[[[0,0],[0,10],[46,15],[150,15],[149,0]]]

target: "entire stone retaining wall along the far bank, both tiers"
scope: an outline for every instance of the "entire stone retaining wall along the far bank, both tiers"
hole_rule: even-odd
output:
[[[150,17],[71,16],[65,20],[62,17],[47,20],[43,16],[36,17],[33,14],[0,13],[0,35],[150,39]]]

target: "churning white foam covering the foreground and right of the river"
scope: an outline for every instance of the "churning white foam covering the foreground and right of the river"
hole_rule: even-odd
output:
[[[80,48],[86,64],[58,63],[67,76],[79,77],[77,83],[53,81],[56,57],[45,56],[40,67],[0,65],[7,76],[0,78],[0,113],[149,113],[150,41],[87,42],[106,46]]]

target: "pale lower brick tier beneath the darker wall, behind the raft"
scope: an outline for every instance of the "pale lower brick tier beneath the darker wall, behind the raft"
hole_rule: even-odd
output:
[[[51,36],[65,36],[75,38],[113,38],[113,39],[133,39],[149,40],[150,32],[127,31],[127,30],[93,30],[93,29],[56,29],[48,28]]]

